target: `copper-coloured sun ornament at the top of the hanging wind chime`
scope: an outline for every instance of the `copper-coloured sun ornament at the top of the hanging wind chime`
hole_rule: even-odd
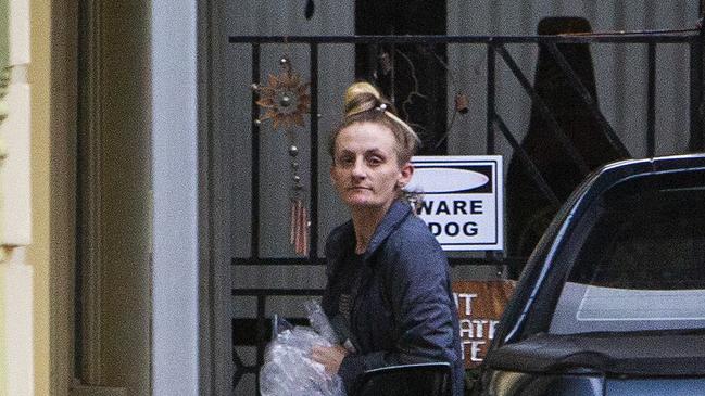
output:
[[[260,94],[256,104],[265,112],[259,122],[272,119],[274,129],[289,130],[293,126],[303,127],[303,115],[311,108],[311,94],[309,94],[311,84],[302,84],[301,76],[292,72],[288,58],[281,58],[279,63],[284,68],[279,76],[269,74],[266,86],[253,86]]]

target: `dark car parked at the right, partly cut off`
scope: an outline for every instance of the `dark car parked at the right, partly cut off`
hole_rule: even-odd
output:
[[[705,154],[614,163],[574,192],[474,391],[705,395]]]

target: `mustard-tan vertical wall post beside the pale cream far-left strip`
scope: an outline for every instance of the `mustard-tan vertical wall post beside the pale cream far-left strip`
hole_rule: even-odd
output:
[[[72,359],[75,5],[30,4],[35,395],[68,394]]]

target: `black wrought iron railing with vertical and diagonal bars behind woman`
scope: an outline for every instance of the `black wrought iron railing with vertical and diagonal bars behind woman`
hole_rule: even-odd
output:
[[[268,44],[289,43],[306,44],[310,58],[311,78],[311,112],[310,112],[310,146],[318,148],[318,81],[319,81],[319,47],[322,44],[480,44],[486,47],[487,67],[487,125],[486,125],[486,148],[487,154],[494,154],[498,135],[506,139],[514,150],[526,170],[547,201],[561,204],[561,200],[538,170],[529,154],[521,148],[518,139],[505,123],[502,114],[499,114],[496,106],[498,87],[498,62],[503,62],[512,72],[514,78],[520,84],[524,91],[531,98],[532,105],[538,108],[546,120],[553,137],[561,143],[565,152],[575,159],[580,173],[587,175],[590,169],[584,159],[580,156],[571,141],[566,137],[561,125],[556,123],[544,98],[537,93],[516,60],[507,51],[508,44],[538,46],[546,49],[554,58],[555,63],[565,73],[567,80],[578,95],[582,99],[584,107],[590,112],[600,125],[601,132],[616,148],[621,157],[632,156],[624,142],[619,139],[609,122],[605,118],[597,106],[596,98],[589,92],[583,81],[570,67],[558,46],[561,44],[646,44],[646,125],[644,127],[644,146],[647,156],[656,153],[656,114],[658,112],[656,101],[657,67],[656,53],[659,44],[680,43],[687,44],[690,58],[690,146],[689,151],[705,150],[704,126],[703,126],[703,35],[700,30],[681,30],[677,33],[639,33],[639,34],[613,34],[613,35],[572,35],[572,36],[311,36],[311,37],[229,37],[230,43],[249,44],[252,56],[252,81],[259,82],[261,78],[262,48]],[[313,265],[320,266],[324,258],[318,256],[318,152],[311,150],[310,155],[310,221],[311,238],[309,238],[309,255],[302,258],[267,258],[260,257],[260,245],[262,243],[260,233],[260,184],[259,177],[261,162],[260,128],[255,119],[260,117],[260,108],[255,104],[256,94],[252,95],[252,135],[251,135],[251,241],[250,257],[234,258],[232,265],[240,266],[295,266]],[[493,264],[506,265],[512,261],[520,261],[520,257],[507,257],[505,255],[487,252],[483,258],[451,258],[451,265],[477,265]],[[237,276],[237,272],[236,272]],[[234,386],[237,386],[246,374],[254,374],[259,379],[259,368],[264,360],[265,344],[269,338],[268,318],[266,318],[267,298],[270,296],[307,296],[320,295],[319,289],[232,289],[232,296],[256,297],[256,319],[234,318],[234,345],[256,346],[256,362],[254,366],[242,363],[242,359],[234,349],[236,372],[234,373]]]

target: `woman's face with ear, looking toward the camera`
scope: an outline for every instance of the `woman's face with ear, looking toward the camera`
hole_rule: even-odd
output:
[[[411,164],[399,165],[394,135],[386,126],[356,123],[338,133],[332,183],[352,209],[387,209],[412,178]]]

